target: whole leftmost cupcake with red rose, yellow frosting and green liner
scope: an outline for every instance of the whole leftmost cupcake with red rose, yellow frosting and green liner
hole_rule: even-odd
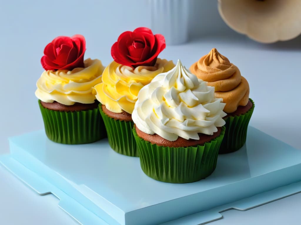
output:
[[[45,71],[35,92],[47,137],[62,144],[92,143],[106,137],[93,87],[101,82],[104,66],[98,59],[84,60],[82,35],[60,36],[44,50]]]

